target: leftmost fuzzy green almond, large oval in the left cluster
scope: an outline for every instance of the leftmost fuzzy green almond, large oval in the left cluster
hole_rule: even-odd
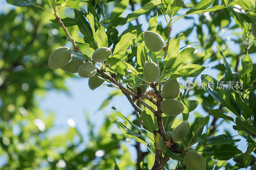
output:
[[[59,47],[55,49],[49,57],[48,60],[48,65],[51,69],[57,69],[60,67],[65,66],[68,64],[71,59],[73,54],[68,53],[69,48],[66,46]]]

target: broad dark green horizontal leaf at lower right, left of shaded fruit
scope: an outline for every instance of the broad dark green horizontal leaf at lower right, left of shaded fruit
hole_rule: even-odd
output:
[[[232,145],[214,145],[210,148],[204,149],[204,152],[210,154],[216,160],[229,160],[236,155],[242,153],[239,149]]]

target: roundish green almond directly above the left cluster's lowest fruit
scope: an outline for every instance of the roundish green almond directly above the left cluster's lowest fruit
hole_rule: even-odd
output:
[[[97,68],[90,62],[85,62],[77,70],[80,77],[90,78],[97,73]]]

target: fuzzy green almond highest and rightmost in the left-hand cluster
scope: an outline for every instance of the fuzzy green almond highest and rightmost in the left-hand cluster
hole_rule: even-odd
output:
[[[100,47],[92,54],[92,60],[101,63],[106,61],[110,55],[112,55],[112,51],[108,47]]]

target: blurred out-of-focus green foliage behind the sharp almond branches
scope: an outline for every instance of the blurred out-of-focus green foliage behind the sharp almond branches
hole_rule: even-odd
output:
[[[104,8],[107,16],[116,5],[116,2],[111,0],[108,2],[110,4]],[[147,2],[146,0],[132,0],[129,8],[133,11],[134,8],[135,10],[139,9]],[[196,3],[195,0],[185,1],[184,8],[193,7]],[[216,0],[214,5],[216,4],[225,5],[225,1]],[[81,2],[80,8],[87,10],[86,3]],[[133,25],[148,23],[148,20],[156,15],[156,8],[141,16],[137,23],[134,21]],[[102,12],[100,5],[97,12],[99,14]],[[183,14],[184,10],[180,10],[180,13]],[[159,20],[164,21],[163,15],[159,13],[158,15]],[[74,18],[73,9],[63,10],[60,16]],[[88,114],[84,121],[90,132],[87,136],[89,142],[86,143],[76,127],[72,127],[72,120],[70,120],[71,127],[67,133],[50,135],[49,131],[53,126],[54,116],[44,115],[35,98],[38,95],[43,96],[51,89],[68,93],[64,82],[67,78],[76,75],[68,74],[60,69],[50,70],[48,67],[48,58],[54,49],[64,45],[70,46],[67,40],[61,38],[65,35],[64,32],[59,29],[58,25],[49,21],[49,18],[54,19],[50,13],[33,6],[17,7],[0,15],[1,169],[147,169],[148,164],[152,166],[154,158],[152,155],[148,156],[147,152],[141,151],[139,143],[134,145],[137,151],[135,156],[138,159],[137,165],[131,160],[131,152],[121,141],[132,139],[116,130],[116,125],[113,130],[112,125],[117,117],[116,114],[106,116],[98,134],[93,132],[95,125],[90,122]],[[172,37],[184,35],[181,37],[180,46],[190,45],[198,48],[198,51],[206,51],[206,55],[196,63],[205,67],[209,66],[210,68],[203,73],[216,74],[215,78],[220,80],[225,74],[225,67],[220,61],[221,56],[216,46],[219,46],[228,58],[233,71],[241,70],[239,61],[245,54],[245,47],[249,48],[249,54],[255,63],[255,54],[253,53],[256,52],[256,44],[255,41],[247,38],[251,34],[251,25],[238,18],[243,18],[243,14],[235,12],[232,8],[224,8],[201,15],[196,14],[185,17],[172,25],[171,35]],[[186,23],[192,24],[188,28],[186,27],[186,30],[180,29]],[[132,25],[121,26],[118,28],[118,33],[121,34],[129,26]],[[83,36],[78,33],[77,26],[70,26],[68,29],[76,41],[83,42]],[[141,29],[144,31],[147,26],[142,25]],[[167,39],[167,25],[164,22],[158,23],[157,32]],[[79,45],[79,48],[88,56],[91,55],[88,46]],[[186,79],[186,77],[183,78]],[[200,77],[195,80],[200,80]],[[103,103],[101,108],[106,107],[116,95],[120,95],[120,93],[113,91],[107,100],[100,99],[100,102]],[[190,90],[186,97],[189,99],[196,97],[197,101],[209,103],[212,108],[221,107],[212,96],[208,96],[202,89]],[[230,114],[227,109],[222,109],[222,111],[225,114]],[[199,112],[200,114],[198,110],[195,110],[193,112],[195,114],[190,116],[190,119],[197,121],[202,115],[210,115],[209,110],[203,110],[202,107]],[[180,121],[180,119],[175,120],[172,125],[176,126]],[[133,123],[138,124],[136,121]],[[209,136],[218,134],[217,127],[223,123],[225,121],[211,116],[205,133]],[[227,135],[236,135],[233,129],[224,128],[221,131]],[[243,141],[247,139],[246,136],[244,138]],[[209,169],[213,167],[219,169],[227,165],[212,160],[205,153],[203,156]]]

